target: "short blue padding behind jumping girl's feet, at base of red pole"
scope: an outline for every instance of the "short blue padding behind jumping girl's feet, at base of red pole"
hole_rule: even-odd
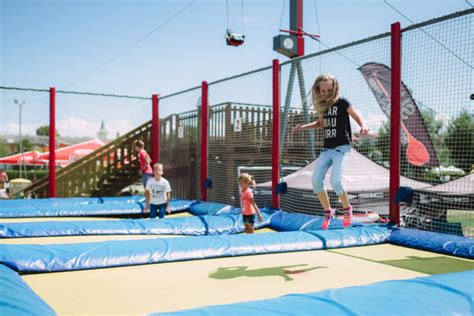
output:
[[[278,231],[320,230],[322,223],[323,218],[321,216],[279,212],[272,217],[270,228]],[[353,227],[362,225],[364,224],[352,224]],[[343,228],[342,221],[339,219],[332,219],[329,228]]]

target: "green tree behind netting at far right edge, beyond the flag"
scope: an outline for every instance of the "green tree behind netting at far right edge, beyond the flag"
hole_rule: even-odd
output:
[[[471,172],[474,164],[474,115],[462,111],[449,125],[445,144],[456,167]]]

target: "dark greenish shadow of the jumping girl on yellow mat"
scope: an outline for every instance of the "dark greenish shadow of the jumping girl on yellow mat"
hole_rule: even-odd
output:
[[[289,270],[289,268],[294,267],[303,267],[307,266],[307,264],[297,264],[292,266],[278,266],[278,267],[270,267],[270,268],[261,268],[261,269],[248,269],[247,266],[240,266],[240,267],[225,267],[225,268],[218,268],[217,271],[209,273],[209,277],[218,280],[225,280],[225,279],[234,279],[238,277],[268,277],[268,276],[280,276],[285,281],[292,281],[293,278],[289,275],[291,274],[299,274],[304,273],[311,270],[327,268],[327,267],[312,267],[306,269],[297,269],[297,270]]]

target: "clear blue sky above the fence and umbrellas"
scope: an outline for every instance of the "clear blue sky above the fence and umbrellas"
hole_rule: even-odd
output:
[[[469,8],[464,0],[389,2],[415,22]],[[268,66],[276,57],[286,60],[272,50],[272,38],[280,26],[288,27],[288,0],[244,0],[246,42],[238,48],[225,45],[224,0],[0,3],[2,86],[167,95],[197,86],[202,80],[214,81]],[[188,4],[184,12],[120,54]],[[381,0],[304,1],[304,29],[320,34],[331,47],[387,32],[396,21],[402,27],[410,25]],[[240,0],[229,1],[229,24],[241,31]],[[307,53],[319,49],[316,42],[306,41]],[[309,88],[310,83],[306,85]],[[15,98],[26,100],[22,124],[26,133],[34,134],[38,126],[48,124],[47,95],[12,91],[0,94],[0,134],[18,131]],[[192,106],[161,111],[166,115],[191,110]],[[149,102],[136,100],[58,96],[57,111],[59,132],[68,136],[93,137],[102,119],[111,135],[123,134],[150,118]]]

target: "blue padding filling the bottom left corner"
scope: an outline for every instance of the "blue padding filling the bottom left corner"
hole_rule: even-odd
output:
[[[17,272],[0,264],[0,315],[56,315]]]

